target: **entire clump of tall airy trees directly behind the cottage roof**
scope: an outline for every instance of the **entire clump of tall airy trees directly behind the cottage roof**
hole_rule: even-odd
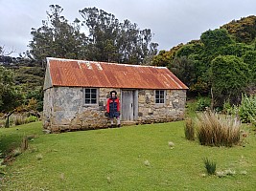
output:
[[[128,20],[120,23],[111,13],[97,8],[79,11],[82,22],[69,23],[61,15],[63,9],[51,5],[47,20],[39,29],[32,29],[33,40],[27,55],[38,63],[45,57],[64,57],[95,61],[143,64],[151,62],[157,53],[157,43],[152,43],[151,30],[140,30]],[[86,36],[81,26],[89,32]]]

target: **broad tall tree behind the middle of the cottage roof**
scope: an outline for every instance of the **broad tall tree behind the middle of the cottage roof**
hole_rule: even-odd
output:
[[[90,60],[142,64],[157,53],[157,43],[151,43],[151,30],[140,30],[137,24],[120,23],[111,13],[97,8],[80,11],[89,32],[87,57]]]

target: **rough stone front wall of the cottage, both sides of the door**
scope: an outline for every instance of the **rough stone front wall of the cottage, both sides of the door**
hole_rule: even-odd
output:
[[[43,127],[51,132],[65,132],[106,128],[105,104],[109,92],[120,89],[98,89],[98,104],[84,105],[83,89],[78,87],[54,87],[44,91]],[[167,90],[166,102],[155,104],[154,90],[139,90],[138,118],[136,123],[166,122],[184,117],[186,91]],[[120,97],[121,100],[121,97]]]

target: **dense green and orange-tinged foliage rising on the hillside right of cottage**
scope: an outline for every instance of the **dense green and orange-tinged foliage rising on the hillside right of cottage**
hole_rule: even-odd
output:
[[[213,98],[215,107],[225,101],[240,103],[241,94],[256,89],[256,16],[248,16],[202,32],[200,39],[160,51],[152,60],[167,66],[190,89],[189,95]]]

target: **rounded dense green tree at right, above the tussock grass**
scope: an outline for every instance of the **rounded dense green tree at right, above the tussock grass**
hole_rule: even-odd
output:
[[[212,93],[215,106],[224,101],[237,104],[250,82],[248,65],[235,55],[217,56],[211,63]]]

